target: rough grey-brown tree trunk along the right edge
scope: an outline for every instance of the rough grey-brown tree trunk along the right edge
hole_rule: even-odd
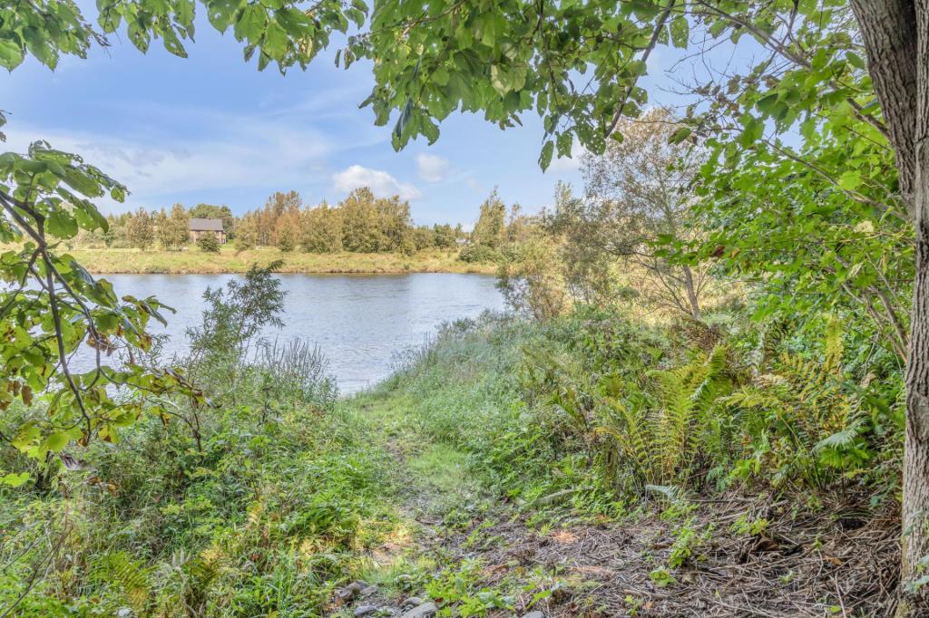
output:
[[[929,586],[910,594],[929,554],[929,0],[852,0],[874,90],[896,151],[916,232],[907,360],[901,595],[897,616],[929,615]]]

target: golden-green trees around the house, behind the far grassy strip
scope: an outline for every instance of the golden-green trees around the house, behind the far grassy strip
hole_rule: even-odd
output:
[[[352,191],[335,206],[325,201],[309,206],[296,191],[277,192],[260,210],[242,217],[229,206],[198,204],[186,209],[175,204],[150,212],[139,208],[109,216],[106,232],[82,232],[78,245],[147,250],[182,251],[190,245],[190,219],[222,219],[223,231],[237,251],[276,247],[281,251],[332,253],[400,252],[410,255],[425,249],[455,249],[468,239],[462,225],[413,225],[410,203],[399,196],[375,198],[370,188]]]

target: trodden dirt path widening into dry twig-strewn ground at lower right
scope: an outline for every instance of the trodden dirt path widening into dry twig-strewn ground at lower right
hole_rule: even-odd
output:
[[[517,506],[466,454],[419,431],[409,404],[366,396],[359,418],[397,463],[397,533],[368,552],[332,615],[861,616],[892,609],[896,534],[841,505],[765,497],[653,508],[622,521],[556,500]],[[363,594],[362,594],[362,591]]]

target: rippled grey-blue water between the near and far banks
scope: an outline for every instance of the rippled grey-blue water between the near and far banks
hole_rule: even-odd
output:
[[[203,290],[236,275],[107,275],[117,294],[154,295],[177,309],[168,328],[152,333],[170,339],[164,354],[184,353],[190,326],[201,323]],[[299,338],[319,345],[343,393],[353,393],[390,374],[395,354],[419,345],[442,322],[500,310],[504,301],[494,277],[418,273],[411,275],[279,275],[287,296],[284,327],[266,336]]]

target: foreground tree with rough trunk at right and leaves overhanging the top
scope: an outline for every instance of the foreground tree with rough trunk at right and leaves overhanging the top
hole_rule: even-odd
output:
[[[277,62],[281,71],[294,64],[305,66],[328,45],[332,31],[347,31],[349,20],[361,27],[367,8],[360,1],[321,0],[307,14],[291,3],[227,5],[204,0],[203,4],[210,9],[211,25],[220,32],[235,26],[233,35],[245,44],[246,58],[255,57],[259,69]],[[395,148],[418,135],[435,141],[437,122],[457,109],[482,111],[502,128],[516,124],[531,109],[543,120],[543,167],[556,150],[559,156],[569,155],[575,139],[600,154],[608,139],[622,138],[614,132],[622,117],[635,117],[648,100],[638,80],[657,45],[687,47],[690,29],[700,28],[704,36],[696,38],[706,46],[698,53],[717,45],[738,45],[742,38],[765,48],[765,55],[753,55],[759,59],[745,75],[733,76],[726,87],[706,92],[717,101],[728,98],[728,105],[714,105],[707,113],[693,107],[688,119],[692,124],[673,138],[706,137],[713,156],[727,165],[738,165],[744,152],[758,144],[779,150],[779,157],[795,157],[848,200],[870,206],[876,218],[900,212],[914,226],[902,566],[903,581],[915,592],[920,559],[929,553],[923,515],[929,513],[929,221],[924,216],[929,211],[929,174],[924,173],[929,168],[929,3],[851,0],[851,16],[842,0],[586,4],[438,0],[425,11],[420,8],[401,0],[379,2],[365,32],[349,37],[347,47],[336,56],[346,67],[358,58],[373,60],[367,66],[372,68],[374,86],[364,104],[372,107],[377,124],[389,122],[397,112]],[[193,9],[188,0],[141,4],[116,0],[99,23],[109,33],[125,19],[129,40],[139,49],[147,50],[155,37],[171,53],[183,56],[183,41],[193,32]],[[105,34],[95,32],[70,0],[16,3],[0,11],[0,65],[8,70],[19,66],[27,54],[54,68],[60,54],[85,57],[90,45],[107,44]],[[861,44],[868,57],[867,72],[859,56]],[[592,79],[576,85],[580,74]],[[875,92],[879,104],[874,103]],[[720,113],[721,109],[730,111]],[[738,116],[735,124],[729,122],[733,114]],[[4,121],[0,115],[0,125]],[[892,148],[898,190],[895,187],[890,203],[874,202],[859,191],[868,161],[855,151],[848,153],[841,167],[836,166],[842,174],[835,176],[785,148],[777,135],[801,122],[811,132],[855,132],[863,142]],[[87,218],[78,225],[95,228],[100,225],[94,216],[98,211],[88,200],[103,191],[117,190],[120,197],[122,193],[98,171],[84,169],[80,177],[69,177],[72,168],[83,162],[61,153],[49,155],[49,150],[40,144],[25,157],[0,156],[0,171],[5,174],[0,233],[9,239],[19,240],[23,234],[33,238],[45,250],[34,259],[54,264],[54,256],[42,244],[46,214],[55,213],[54,229],[48,231],[55,238],[68,231],[59,224],[71,225],[71,220],[58,203],[42,206],[50,212],[36,210],[21,177],[40,177],[44,183],[40,188],[57,192],[56,199],[84,200],[78,212]],[[56,165],[47,164],[49,156]],[[70,167],[59,167],[62,157]],[[80,188],[72,184],[81,181]],[[30,255],[24,254],[26,264]],[[15,278],[12,272],[5,266],[7,278]],[[53,290],[41,293],[46,295],[44,302],[54,304]],[[82,293],[74,290],[79,299]],[[19,297],[10,302],[18,308],[25,303]],[[59,341],[60,330],[56,329]],[[11,375],[6,371],[0,377]],[[71,393],[79,390],[72,388]],[[910,595],[900,604],[900,613],[929,613],[929,598],[924,593]]]

